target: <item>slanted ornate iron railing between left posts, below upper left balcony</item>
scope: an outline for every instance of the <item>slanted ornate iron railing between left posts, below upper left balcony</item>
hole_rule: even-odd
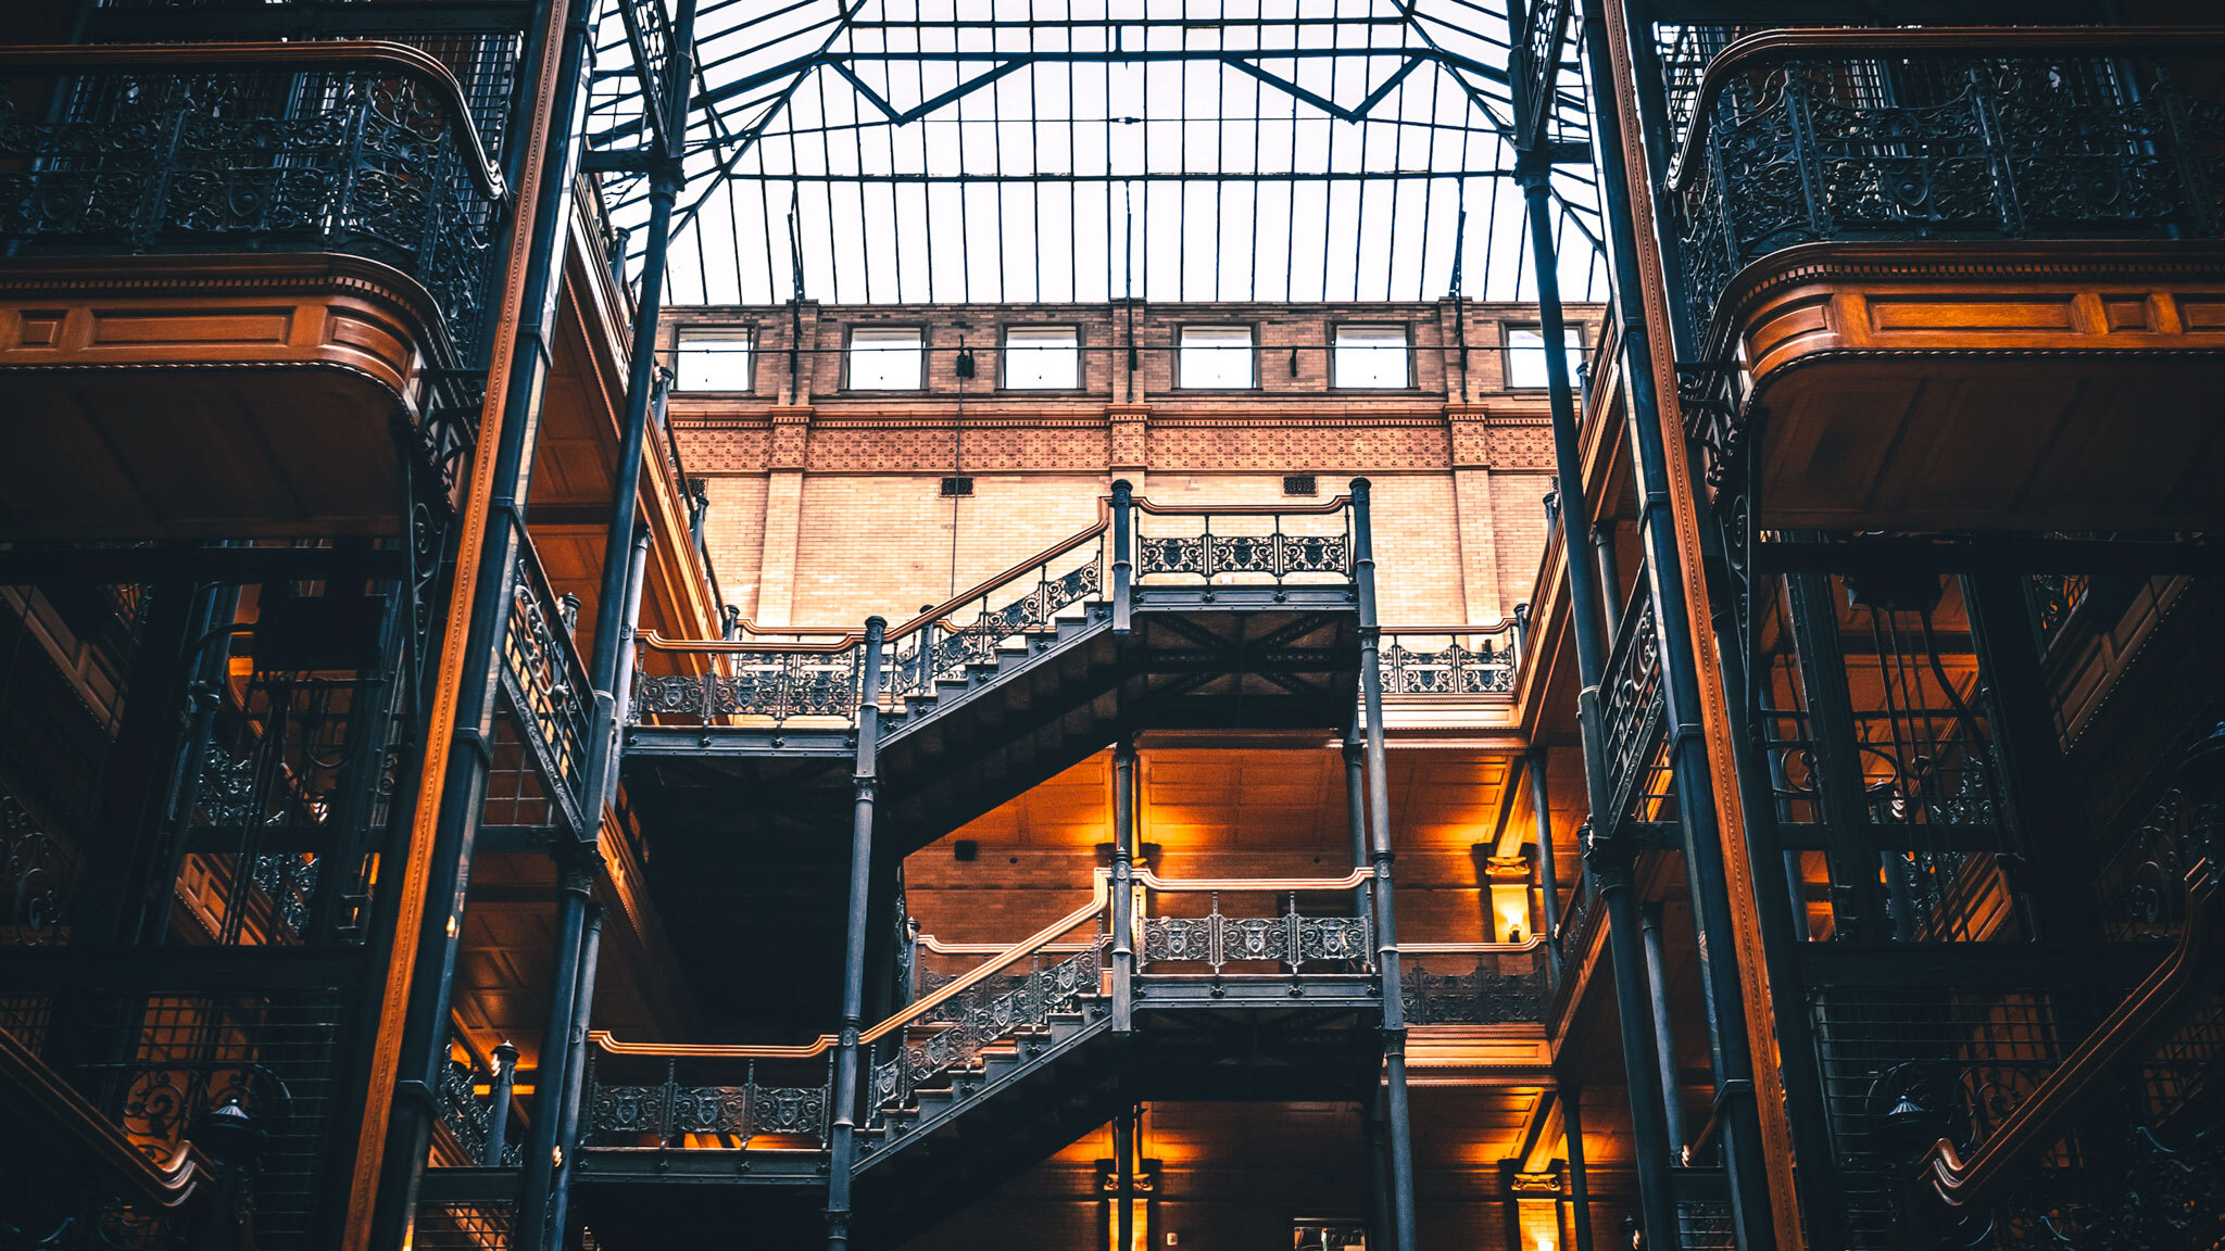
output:
[[[525,746],[576,837],[590,837],[601,806],[587,797],[592,703],[587,670],[572,630],[578,601],[556,597],[532,543],[518,548],[518,570],[503,630],[503,695],[518,715]]]

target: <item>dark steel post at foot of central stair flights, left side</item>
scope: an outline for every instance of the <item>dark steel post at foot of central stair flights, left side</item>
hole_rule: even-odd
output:
[[[872,797],[881,781],[881,639],[888,621],[866,619],[857,688],[857,801],[850,817],[850,917],[843,930],[841,1044],[834,1051],[834,1126],[828,1133],[828,1251],[850,1244],[850,1173],[857,1169],[857,1051],[866,1024],[866,924],[872,910]]]

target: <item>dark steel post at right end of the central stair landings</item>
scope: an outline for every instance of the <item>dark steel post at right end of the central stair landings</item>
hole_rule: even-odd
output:
[[[1384,1129],[1391,1133],[1391,1227],[1413,1238],[1413,1129],[1406,1113],[1406,1006],[1400,993],[1397,910],[1391,906],[1391,777],[1384,766],[1382,623],[1375,619],[1371,490],[1353,479],[1353,588],[1359,599],[1359,703],[1368,723],[1368,859],[1375,868],[1375,977],[1384,1004]]]

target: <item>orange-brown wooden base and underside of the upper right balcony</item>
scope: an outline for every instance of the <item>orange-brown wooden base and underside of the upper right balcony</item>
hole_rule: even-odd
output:
[[[2225,247],[1818,243],[1749,265],[1722,314],[1762,525],[2225,521]]]

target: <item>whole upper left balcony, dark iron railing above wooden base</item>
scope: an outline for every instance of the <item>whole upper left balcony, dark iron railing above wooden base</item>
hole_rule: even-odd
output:
[[[438,60],[27,47],[0,76],[0,534],[387,534],[405,472],[454,492],[505,191]]]

